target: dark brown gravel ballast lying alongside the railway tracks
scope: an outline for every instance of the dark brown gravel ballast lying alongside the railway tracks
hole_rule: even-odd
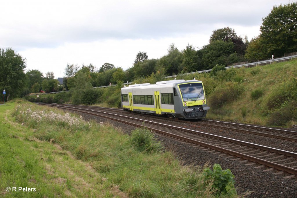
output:
[[[134,126],[123,124],[120,122],[115,122],[107,120],[105,118],[100,118],[84,113],[79,114],[81,114],[85,120],[92,119],[96,120],[97,122],[112,123],[114,127],[121,128],[121,130],[127,134],[129,134],[133,129],[135,129]],[[138,117],[138,115],[132,114],[132,117]],[[209,127],[199,128],[199,131],[203,130],[208,131],[208,133],[214,133],[216,135],[221,135],[219,133],[224,133],[223,131],[220,131],[218,129],[210,129]],[[232,138],[237,139],[236,133],[230,133],[232,133]],[[239,135],[238,137],[240,138],[242,136],[243,135]],[[166,149],[171,150],[173,153],[175,153],[177,158],[179,158],[184,165],[199,165],[203,167],[205,164],[208,164],[209,167],[212,168],[213,164],[216,163],[220,164],[223,169],[230,169],[235,176],[235,186],[238,194],[243,194],[247,191],[251,192],[245,197],[297,197],[297,178],[284,178],[290,176],[287,173],[280,174],[281,172],[278,172],[274,169],[271,170],[269,167],[264,167],[260,164],[246,165],[252,164],[252,162],[242,162],[243,160],[233,156],[228,156],[213,150],[203,150],[198,147],[193,147],[189,144],[186,144],[185,142],[177,141],[174,139],[168,139],[164,136],[159,136],[157,134],[156,137],[158,137],[158,139],[164,143]],[[267,143],[267,145],[271,146],[271,144],[275,144],[274,147],[278,147],[277,145],[279,145],[279,147],[282,147],[283,150],[287,150],[284,149],[284,146],[288,147],[289,149],[292,149],[292,151],[296,149],[296,144],[292,144],[291,142],[280,142],[276,139],[269,140],[269,138],[263,141],[263,139],[259,140],[259,137],[255,137],[252,135],[249,135],[248,138],[251,139],[251,141],[259,141],[259,144],[260,142],[262,142],[263,144],[264,141],[266,143],[268,141],[271,141],[271,143]],[[240,140],[243,140],[243,138],[241,138]],[[246,138],[244,139],[244,141],[247,141]],[[261,167],[254,168],[258,166]]]

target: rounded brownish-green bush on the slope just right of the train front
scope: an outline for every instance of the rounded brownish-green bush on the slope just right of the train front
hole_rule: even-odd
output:
[[[227,82],[216,87],[208,101],[212,108],[219,108],[226,103],[236,100],[243,91],[244,87],[242,84],[237,82]]]

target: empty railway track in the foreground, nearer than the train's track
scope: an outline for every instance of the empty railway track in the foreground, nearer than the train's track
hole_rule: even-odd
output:
[[[257,163],[263,166],[268,166],[272,169],[278,169],[281,171],[280,173],[287,172],[297,175],[297,153],[154,121],[90,110],[88,108],[81,108],[78,106],[70,107],[69,105],[57,104],[50,104],[50,106],[100,116],[129,125],[134,125],[136,127],[146,127],[152,131],[162,134],[163,136],[170,136],[170,138],[186,141],[204,149],[210,149],[211,152],[219,151],[220,153],[229,154],[231,157],[235,156],[236,158],[233,160],[240,160],[239,163],[245,163],[247,165],[255,165]]]

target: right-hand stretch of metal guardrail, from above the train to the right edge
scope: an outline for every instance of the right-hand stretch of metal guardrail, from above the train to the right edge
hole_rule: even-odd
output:
[[[281,57],[281,58],[276,58],[276,59],[270,59],[270,60],[264,60],[264,61],[257,61],[257,62],[251,62],[251,63],[246,63],[246,64],[241,64],[241,65],[232,65],[232,66],[228,66],[225,67],[226,69],[230,69],[230,68],[238,68],[238,67],[249,67],[252,65],[260,65],[260,64],[271,64],[273,62],[281,62],[281,61],[285,61],[288,59],[293,59],[293,58],[297,58],[297,55],[293,55],[293,56],[286,56],[286,57]],[[184,75],[190,75],[190,74],[194,74],[194,73],[206,73],[206,72],[211,72],[211,69],[209,70],[201,70],[201,71],[196,71],[196,72],[190,72],[190,73],[184,73],[184,74],[178,74],[178,75],[174,75],[174,76],[166,76],[165,78],[173,78],[176,76],[184,76]]]

